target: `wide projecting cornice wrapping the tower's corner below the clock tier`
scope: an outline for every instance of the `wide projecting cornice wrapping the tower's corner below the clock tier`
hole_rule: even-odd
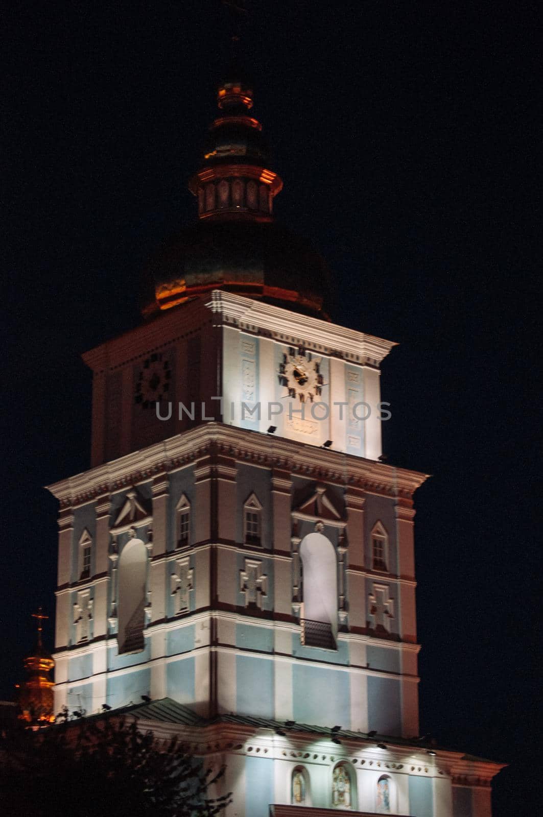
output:
[[[428,478],[419,471],[397,468],[352,454],[247,431],[221,422],[206,422],[183,434],[150,445],[82,474],[61,480],[47,489],[61,508],[95,501],[104,493],[129,488],[157,475],[196,463],[210,454],[228,455],[238,462],[283,471],[310,480],[354,486],[391,498],[411,498]]]

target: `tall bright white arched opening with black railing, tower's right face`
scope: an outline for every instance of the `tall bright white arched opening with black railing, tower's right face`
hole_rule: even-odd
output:
[[[338,623],[338,565],[330,539],[307,534],[300,542],[302,561],[302,638],[308,647],[335,650]]]

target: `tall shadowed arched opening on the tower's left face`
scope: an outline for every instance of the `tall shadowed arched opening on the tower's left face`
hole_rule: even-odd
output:
[[[129,539],[119,557],[119,653],[143,650],[146,580],[146,546]]]

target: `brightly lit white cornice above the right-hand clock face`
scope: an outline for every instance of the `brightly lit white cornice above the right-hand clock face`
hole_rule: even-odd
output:
[[[211,299],[205,306],[213,313],[221,314],[225,324],[356,363],[379,366],[393,346],[397,346],[397,343],[385,341],[382,337],[366,335],[218,289],[211,292]]]

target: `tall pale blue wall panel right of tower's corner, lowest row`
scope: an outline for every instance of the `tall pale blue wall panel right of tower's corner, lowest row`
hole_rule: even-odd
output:
[[[273,717],[273,661],[271,659],[261,659],[252,655],[236,656],[236,712],[240,715]]]

